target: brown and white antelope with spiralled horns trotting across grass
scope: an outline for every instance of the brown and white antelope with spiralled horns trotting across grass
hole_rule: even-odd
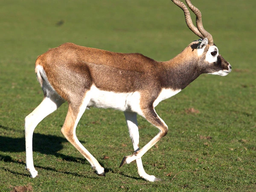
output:
[[[231,65],[219,54],[212,35],[202,24],[201,12],[186,0],[196,15],[196,26],[187,6],[172,0],[185,15],[186,24],[200,40],[193,41],[169,61],[158,62],[139,53],[116,53],[65,43],[38,56],[35,73],[44,99],[25,118],[26,169],[36,177],[32,156],[35,127],[65,101],[67,116],[61,133],[85,157],[99,176],[104,168],[76,137],[76,126],[86,108],[113,108],[123,111],[134,153],[123,158],[120,167],[136,160],[138,174],[148,181],[158,181],[143,169],[141,157],[168,132],[155,107],[183,90],[203,73],[226,76]],[[139,148],[137,114],[159,129],[158,134]]]

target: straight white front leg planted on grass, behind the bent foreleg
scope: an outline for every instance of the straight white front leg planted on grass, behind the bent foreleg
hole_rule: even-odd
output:
[[[127,126],[128,126],[129,133],[130,133],[131,142],[132,142],[133,147],[134,147],[134,152],[137,152],[137,151],[140,150],[137,113],[126,111],[125,112],[125,119],[126,119],[126,123],[127,123]],[[124,157],[124,159],[126,159],[126,158]],[[140,175],[141,178],[143,178],[145,180],[148,180],[148,181],[160,180],[160,179],[156,178],[154,175],[148,175],[145,172],[145,170],[143,168],[141,158],[136,159],[136,163],[137,163],[137,168],[138,168],[138,174]],[[125,164],[125,163],[123,163],[123,161],[122,161],[120,166],[122,166],[123,164]]]

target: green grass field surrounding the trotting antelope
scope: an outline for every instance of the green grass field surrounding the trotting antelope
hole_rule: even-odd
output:
[[[167,61],[198,39],[170,0],[1,0],[0,191],[256,191],[255,0],[194,0],[204,27],[233,71],[201,75],[156,111],[169,133],[135,163],[119,168],[133,148],[122,112],[92,108],[77,127],[81,143],[107,170],[97,176],[60,129],[64,104],[35,129],[39,177],[25,168],[24,118],[42,100],[35,59],[65,42]],[[157,129],[139,117],[140,146]],[[105,157],[105,158],[104,158]],[[108,157],[108,158],[106,158]]]

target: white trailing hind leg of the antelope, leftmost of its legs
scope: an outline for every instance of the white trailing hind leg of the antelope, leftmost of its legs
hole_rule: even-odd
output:
[[[47,115],[55,111],[64,101],[54,96],[46,96],[44,100],[25,118],[25,140],[26,140],[26,169],[30,172],[32,178],[38,175],[33,163],[32,137],[35,127]]]

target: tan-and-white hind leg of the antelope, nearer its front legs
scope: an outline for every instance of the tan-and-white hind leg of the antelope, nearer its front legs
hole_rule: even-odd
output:
[[[96,173],[100,176],[105,176],[104,168],[99,164],[95,157],[87,151],[86,148],[79,142],[76,137],[76,126],[84,113],[88,102],[90,101],[90,91],[88,91],[80,105],[75,103],[69,103],[69,108],[67,116],[63,127],[61,128],[61,133],[66,137],[66,139],[85,157],[85,159],[90,163]]]

